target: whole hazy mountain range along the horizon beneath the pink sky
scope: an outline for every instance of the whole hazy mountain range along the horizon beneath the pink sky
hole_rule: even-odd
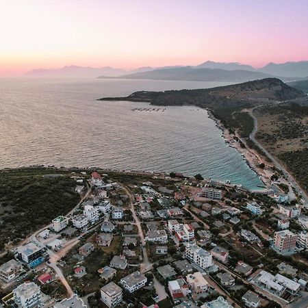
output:
[[[233,81],[242,82],[266,77],[279,77],[284,81],[308,79],[308,61],[270,63],[262,68],[237,62],[207,61],[197,66],[151,66],[124,70],[122,68],[92,68],[90,66],[64,66],[58,69],[36,69],[25,73],[31,77],[98,77],[123,79],[162,79],[188,81]]]

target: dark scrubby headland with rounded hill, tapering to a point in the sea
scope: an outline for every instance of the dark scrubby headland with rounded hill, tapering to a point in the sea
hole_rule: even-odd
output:
[[[242,84],[198,90],[169,90],[164,92],[139,91],[128,97],[105,97],[99,101],[144,101],[153,105],[198,105],[200,107],[219,107],[258,101],[285,101],[305,97],[305,94],[287,86],[276,78],[248,81]]]

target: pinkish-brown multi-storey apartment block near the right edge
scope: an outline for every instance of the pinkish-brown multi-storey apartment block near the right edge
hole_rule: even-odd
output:
[[[281,255],[290,255],[295,252],[297,235],[290,230],[282,230],[274,234],[274,249]]]

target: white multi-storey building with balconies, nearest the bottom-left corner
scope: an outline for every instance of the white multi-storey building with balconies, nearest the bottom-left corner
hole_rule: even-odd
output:
[[[25,282],[13,290],[14,302],[22,308],[31,308],[40,303],[40,287],[34,282]]]

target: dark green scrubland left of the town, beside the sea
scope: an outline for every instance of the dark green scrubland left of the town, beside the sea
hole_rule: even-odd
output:
[[[10,242],[18,243],[77,205],[76,184],[68,175],[62,170],[45,168],[0,171],[0,250]]]

